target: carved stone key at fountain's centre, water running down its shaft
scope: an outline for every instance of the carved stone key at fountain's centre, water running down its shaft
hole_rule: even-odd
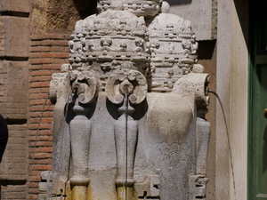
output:
[[[121,116],[115,123],[118,168],[116,182],[118,185],[133,185],[135,182],[134,149],[137,140],[137,123],[132,117],[134,112],[132,106],[145,99],[147,89],[145,77],[139,71],[134,70],[120,71],[117,75],[110,76],[106,86],[108,99],[112,103],[122,104],[117,110]],[[128,165],[125,166],[125,162]]]

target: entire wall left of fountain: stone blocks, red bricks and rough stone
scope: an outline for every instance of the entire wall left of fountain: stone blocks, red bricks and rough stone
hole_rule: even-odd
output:
[[[96,0],[0,0],[0,114],[10,132],[0,164],[2,199],[42,193],[40,173],[52,170],[53,105],[46,101],[51,75],[69,62],[76,21],[95,8]]]

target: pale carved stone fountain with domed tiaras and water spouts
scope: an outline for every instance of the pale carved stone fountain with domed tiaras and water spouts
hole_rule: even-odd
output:
[[[53,74],[49,200],[206,198],[209,76],[161,0],[99,0]]]

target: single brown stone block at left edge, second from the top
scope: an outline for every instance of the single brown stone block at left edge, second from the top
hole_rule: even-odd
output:
[[[29,19],[0,16],[0,57],[26,57],[29,46]]]

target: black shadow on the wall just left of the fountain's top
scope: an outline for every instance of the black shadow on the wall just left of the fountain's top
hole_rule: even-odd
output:
[[[77,8],[77,12],[81,19],[85,19],[86,17],[97,13],[96,4],[97,0],[72,0]]]

